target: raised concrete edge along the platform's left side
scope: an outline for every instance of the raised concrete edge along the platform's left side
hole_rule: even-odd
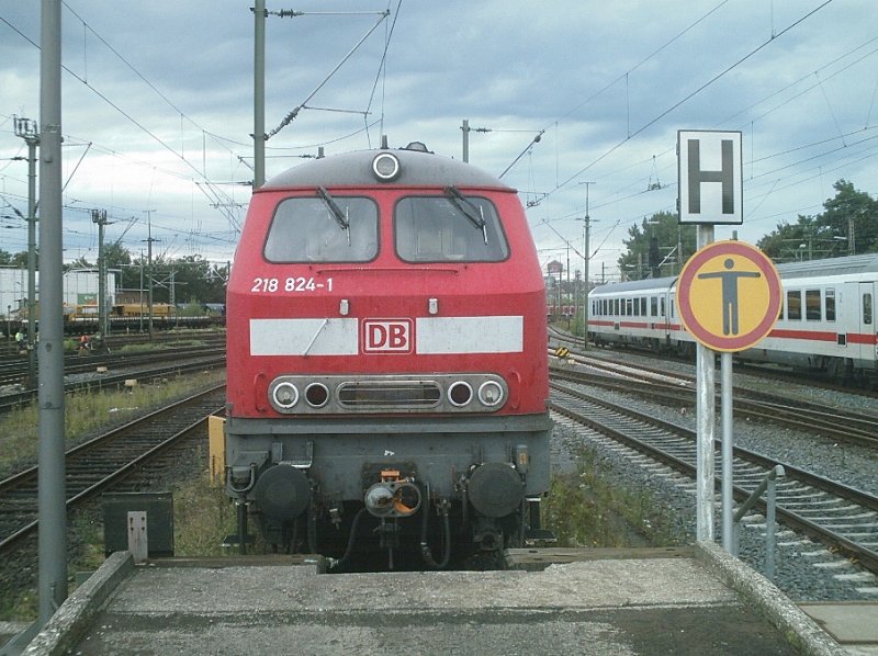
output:
[[[101,606],[134,569],[128,552],[115,552],[70,595],[23,652],[26,656],[60,656],[76,646]]]

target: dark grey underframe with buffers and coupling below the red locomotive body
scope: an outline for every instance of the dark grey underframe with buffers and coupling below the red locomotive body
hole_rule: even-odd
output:
[[[418,507],[410,514],[391,511],[386,521],[379,518],[378,531],[386,532],[382,547],[399,546],[399,535],[417,534],[426,523],[435,542],[435,532],[450,517],[455,541],[465,533],[463,539],[476,548],[498,550],[521,542],[528,522],[526,499],[549,490],[550,436],[547,414],[441,419],[233,416],[226,423],[227,491],[257,516],[267,542],[282,543],[292,533],[303,534],[301,527],[307,525],[318,533],[308,533],[309,548],[323,550],[327,535],[325,530],[320,535],[318,527],[353,532],[359,522],[352,516],[365,509],[367,493],[409,486],[416,488]],[[289,490],[308,498],[288,499],[292,509],[274,516],[260,508],[255,489],[269,471],[300,482],[280,484],[274,488],[280,494]],[[393,480],[389,473],[395,475]],[[517,500],[510,500],[515,495]],[[277,501],[282,507],[286,502]],[[245,530],[246,520],[239,533]],[[440,542],[449,539],[443,535]]]

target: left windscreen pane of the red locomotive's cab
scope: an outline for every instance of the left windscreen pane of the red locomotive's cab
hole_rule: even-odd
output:
[[[286,199],[263,252],[269,262],[368,262],[378,255],[378,208],[358,196]]]

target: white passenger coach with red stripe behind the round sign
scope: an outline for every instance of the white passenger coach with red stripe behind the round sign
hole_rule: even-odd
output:
[[[878,253],[778,264],[778,321],[740,360],[820,370],[840,377],[875,377]],[[677,278],[603,285],[588,295],[594,342],[694,353],[695,339],[675,306]],[[744,301],[746,302],[746,301]]]

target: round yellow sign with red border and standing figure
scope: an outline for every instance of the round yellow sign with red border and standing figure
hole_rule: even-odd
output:
[[[717,351],[743,351],[777,321],[780,276],[756,247],[716,241],[686,262],[676,301],[683,325],[696,340]]]

